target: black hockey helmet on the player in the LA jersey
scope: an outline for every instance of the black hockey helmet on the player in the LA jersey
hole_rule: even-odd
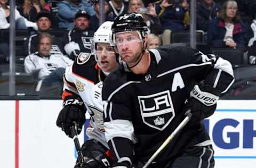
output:
[[[116,17],[111,30],[113,35],[123,31],[140,31],[144,40],[148,27],[140,13],[125,13]]]

